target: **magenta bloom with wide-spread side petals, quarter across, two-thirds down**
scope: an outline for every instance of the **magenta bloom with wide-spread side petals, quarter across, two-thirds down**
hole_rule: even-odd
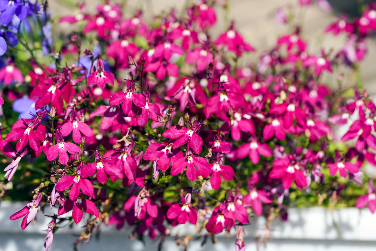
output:
[[[94,151],[95,163],[89,163],[82,167],[81,176],[82,178],[87,178],[88,176],[93,176],[97,172],[97,180],[105,184],[107,181],[107,174],[115,176],[119,179],[123,178],[123,170],[120,167],[110,163],[108,158],[102,158],[98,150]]]

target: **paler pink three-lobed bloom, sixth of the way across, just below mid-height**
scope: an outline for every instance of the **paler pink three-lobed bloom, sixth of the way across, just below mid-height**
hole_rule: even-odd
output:
[[[59,155],[59,161],[61,164],[65,165],[68,163],[68,154],[74,154],[75,152],[79,152],[82,154],[81,149],[70,142],[64,142],[62,135],[59,133],[59,129],[56,130],[56,140],[58,143],[56,145],[51,146],[47,151],[47,160],[55,160]]]

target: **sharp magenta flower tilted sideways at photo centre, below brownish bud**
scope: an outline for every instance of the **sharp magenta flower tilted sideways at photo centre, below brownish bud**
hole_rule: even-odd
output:
[[[202,138],[196,134],[200,129],[201,123],[195,120],[190,123],[190,128],[185,128],[181,126],[173,126],[168,128],[163,132],[162,136],[166,138],[176,139],[172,144],[172,148],[176,149],[189,141],[189,146],[192,148],[195,154],[200,154],[202,150]]]

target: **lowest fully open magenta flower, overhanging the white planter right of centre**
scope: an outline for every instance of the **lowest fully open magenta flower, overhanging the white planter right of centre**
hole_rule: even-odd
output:
[[[234,221],[233,219],[224,216],[225,210],[226,206],[224,204],[220,204],[214,208],[209,221],[205,225],[205,228],[209,233],[219,234],[223,231],[223,228],[225,228],[226,231],[229,231],[230,228],[233,227]]]

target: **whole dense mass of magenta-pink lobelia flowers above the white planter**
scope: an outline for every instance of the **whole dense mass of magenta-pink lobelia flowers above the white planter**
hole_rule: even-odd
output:
[[[348,36],[337,54],[308,52],[296,27],[249,67],[235,67],[233,58],[255,49],[233,22],[214,39],[216,12],[205,1],[188,6],[183,19],[171,11],[152,25],[141,11],[124,18],[117,5],[98,5],[91,15],[79,10],[60,21],[85,23],[83,36],[70,37],[54,67],[33,65],[25,77],[12,62],[0,69],[5,84],[29,79],[23,94],[37,109],[33,119],[2,128],[5,177],[20,176],[21,158],[48,163],[35,199],[11,220],[24,216],[24,229],[41,204],[58,207],[47,250],[53,228],[63,222],[59,216],[70,211],[76,224],[85,211],[150,238],[186,222],[208,234],[236,228],[237,250],[244,250],[250,216],[279,212],[286,219],[289,192],[315,187],[340,196],[326,173],[360,186],[368,178],[364,163],[376,166],[374,102],[357,88],[345,99],[320,81],[338,64],[352,69],[363,59],[366,38],[376,30],[376,6],[326,29]],[[88,37],[101,41],[99,54],[81,47]],[[65,64],[68,54],[79,60]],[[350,122],[346,134],[332,131]],[[336,142],[348,140],[354,147],[334,151]],[[373,213],[373,180],[356,202],[366,205]]]

